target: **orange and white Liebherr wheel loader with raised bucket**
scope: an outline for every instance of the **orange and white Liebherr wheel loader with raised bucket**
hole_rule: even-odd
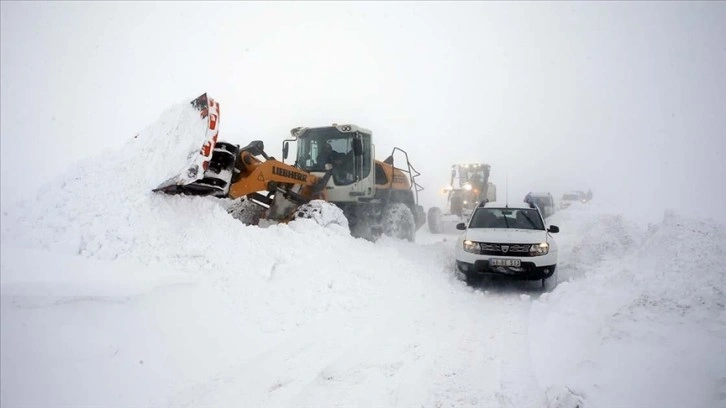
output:
[[[244,203],[238,208],[258,213],[247,218],[254,222],[311,218],[311,202],[325,201],[342,210],[354,237],[369,240],[385,234],[414,241],[426,223],[418,204],[423,188],[415,180],[420,173],[397,147],[384,161],[376,160],[370,130],[352,124],[294,128],[292,138],[283,141],[283,160],[278,161],[265,153],[262,141],[240,147],[218,140],[219,103],[207,94],[192,106],[207,123],[202,147],[190,155],[185,171],[154,192],[235,200]],[[286,164],[291,143],[297,148],[296,158]],[[405,168],[394,166],[397,152]]]

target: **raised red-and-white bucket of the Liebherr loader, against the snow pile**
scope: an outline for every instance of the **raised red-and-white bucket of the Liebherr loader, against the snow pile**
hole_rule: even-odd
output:
[[[198,151],[192,151],[187,156],[189,157],[184,168],[180,169],[180,172],[162,182],[159,186],[153,189],[154,192],[162,192],[167,194],[195,194],[195,195],[223,195],[226,191],[220,186],[207,186],[210,183],[200,185],[201,180],[204,179],[205,173],[210,166],[212,161],[212,155],[217,147],[217,137],[219,135],[219,103],[214,99],[208,98],[207,94],[204,93],[190,104],[195,110],[199,112],[199,120],[205,123],[204,133],[189,135],[192,138],[199,139]],[[184,135],[186,137],[186,135]],[[231,150],[231,149],[225,149]],[[234,154],[236,152],[230,152]],[[223,182],[218,183],[224,185],[228,184]]]

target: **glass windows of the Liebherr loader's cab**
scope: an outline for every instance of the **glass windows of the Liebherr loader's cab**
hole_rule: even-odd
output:
[[[371,171],[370,135],[362,133],[363,157],[361,177]],[[333,165],[333,180],[337,185],[354,182],[355,155],[353,154],[354,133],[343,133],[335,127],[308,129],[299,136],[297,166],[310,172],[324,172],[325,164]]]

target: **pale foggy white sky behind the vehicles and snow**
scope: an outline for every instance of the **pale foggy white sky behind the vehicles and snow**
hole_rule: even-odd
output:
[[[726,222],[724,2],[0,11],[3,207],[207,92],[220,139],[263,140],[278,158],[297,126],[371,129],[378,159],[408,152],[425,208],[444,204],[453,163],[485,162],[513,202],[590,188],[646,221],[674,209]]]

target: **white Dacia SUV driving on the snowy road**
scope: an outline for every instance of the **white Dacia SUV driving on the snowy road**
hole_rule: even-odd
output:
[[[484,203],[476,208],[465,231],[456,242],[456,268],[472,284],[483,275],[512,279],[545,280],[557,267],[557,243],[551,234],[555,225],[545,227],[539,209]]]

